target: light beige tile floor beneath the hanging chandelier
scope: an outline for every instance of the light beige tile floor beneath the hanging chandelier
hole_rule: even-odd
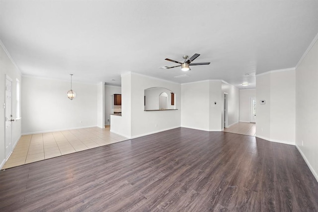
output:
[[[128,138],[90,127],[67,131],[22,135],[2,169],[32,163],[86,149],[117,143]]]

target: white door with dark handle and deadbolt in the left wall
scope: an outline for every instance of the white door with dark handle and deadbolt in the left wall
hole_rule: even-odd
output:
[[[12,151],[12,82],[5,78],[5,158]]]

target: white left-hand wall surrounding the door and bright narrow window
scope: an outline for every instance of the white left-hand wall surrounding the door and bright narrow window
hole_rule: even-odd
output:
[[[10,55],[6,53],[5,47],[0,41],[0,168],[4,165],[5,162],[5,109],[3,104],[5,103],[5,75],[8,75],[12,80],[12,116],[15,121],[12,122],[12,147],[18,142],[21,137],[21,120],[16,117],[16,79],[20,81],[20,94],[21,94],[21,74],[20,71],[16,68]],[[21,97],[21,95],[20,95]],[[20,101],[21,102],[21,101]],[[21,111],[21,106],[20,106]]]

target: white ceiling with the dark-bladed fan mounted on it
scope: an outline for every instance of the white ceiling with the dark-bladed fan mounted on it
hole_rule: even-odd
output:
[[[255,74],[295,67],[317,33],[317,0],[0,0],[0,40],[22,74],[75,82],[120,85],[131,71],[255,88]],[[194,53],[211,64],[159,69]]]

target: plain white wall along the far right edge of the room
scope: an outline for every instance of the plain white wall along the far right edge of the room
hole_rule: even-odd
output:
[[[296,146],[318,180],[318,42],[296,69]]]

